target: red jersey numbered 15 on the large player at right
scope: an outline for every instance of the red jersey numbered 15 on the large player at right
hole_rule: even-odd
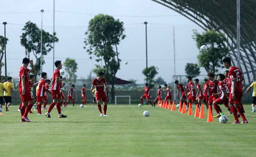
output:
[[[241,80],[241,76],[243,76],[243,74],[241,73],[240,69],[236,66],[231,66],[229,71],[228,71],[228,78],[230,78],[230,81],[232,83],[232,80],[236,81],[236,89],[235,92],[242,92],[243,88],[242,88],[242,80]],[[234,89],[231,87],[231,93],[234,92]]]

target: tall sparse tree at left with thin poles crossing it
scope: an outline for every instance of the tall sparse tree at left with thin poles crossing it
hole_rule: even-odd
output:
[[[26,57],[30,57],[30,53],[35,56],[35,78],[40,75],[41,69],[41,30],[35,23],[28,21],[25,23],[24,32],[20,36],[20,44],[25,48]],[[58,38],[49,34],[49,32],[42,31],[42,65],[44,65],[44,55],[47,55],[52,50],[52,43],[58,42]]]

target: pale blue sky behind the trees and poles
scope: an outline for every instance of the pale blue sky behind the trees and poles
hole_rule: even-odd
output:
[[[29,20],[41,29],[40,11],[43,9],[42,27],[52,34],[53,0],[0,0],[0,4],[0,22],[7,22],[6,37],[9,39],[6,46],[7,75],[17,78],[25,57],[25,48],[20,45],[21,29]],[[186,17],[152,0],[55,0],[55,32],[59,38],[55,43],[55,60],[63,63],[67,57],[75,59],[78,63],[77,79],[86,79],[97,64],[89,59],[84,49],[84,33],[90,19],[97,14],[108,14],[124,23],[126,38],[118,46],[122,63],[116,77],[145,83],[142,74],[146,67],[145,21],[148,23],[148,67],[158,68],[155,78],[162,77],[166,83],[173,81],[174,40],[176,75],[186,75],[186,63],[197,63],[199,50],[192,39],[192,30],[200,33],[203,30]],[[0,35],[4,36],[3,24],[0,25]],[[46,64],[42,69],[51,76],[53,52],[44,58]],[[35,60],[35,57],[30,59]],[[206,71],[203,68],[200,71],[203,79]]]

